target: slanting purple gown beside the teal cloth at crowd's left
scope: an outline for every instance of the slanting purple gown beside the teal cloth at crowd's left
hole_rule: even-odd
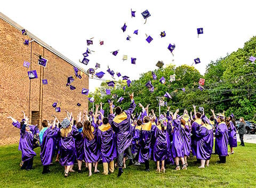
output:
[[[54,138],[58,136],[59,128],[52,126],[47,128],[43,134],[43,140],[41,141],[41,152],[40,158],[43,165],[50,165],[52,163],[52,158],[54,156]]]

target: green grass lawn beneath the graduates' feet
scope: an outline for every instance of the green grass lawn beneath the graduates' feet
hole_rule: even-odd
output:
[[[188,160],[188,170],[173,170],[168,165],[166,173],[156,173],[154,161],[150,162],[150,172],[141,167],[127,167],[117,178],[117,170],[111,175],[93,174],[88,177],[70,173],[63,177],[64,167],[57,163],[50,166],[51,174],[42,175],[43,166],[39,148],[35,151],[34,170],[21,170],[21,152],[18,144],[0,147],[0,186],[1,187],[256,187],[256,144],[246,143],[245,147],[235,148],[234,155],[227,157],[227,163],[217,165],[217,155],[212,155],[210,167],[198,169],[195,159]],[[84,166],[83,166],[84,168]],[[77,170],[77,167],[74,167]],[[99,165],[102,172],[102,164]]]

